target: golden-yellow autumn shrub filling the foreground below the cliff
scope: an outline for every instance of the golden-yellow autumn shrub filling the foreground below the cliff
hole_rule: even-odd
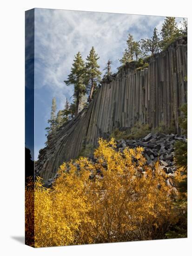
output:
[[[63,163],[52,189],[38,178],[35,247],[164,238],[176,192],[158,163],[146,165],[142,151],[119,152],[114,139],[99,139],[95,160]]]

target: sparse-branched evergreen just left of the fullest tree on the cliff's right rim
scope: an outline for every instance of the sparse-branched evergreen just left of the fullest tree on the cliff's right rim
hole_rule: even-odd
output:
[[[160,39],[156,27],[154,28],[153,35],[150,39],[141,39],[141,49],[144,55],[148,53],[151,53],[152,55],[159,53]]]

